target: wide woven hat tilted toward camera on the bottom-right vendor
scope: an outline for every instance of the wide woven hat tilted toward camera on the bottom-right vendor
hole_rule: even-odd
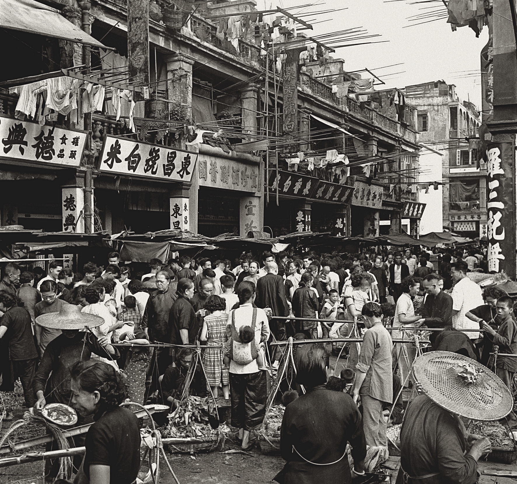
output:
[[[433,402],[461,417],[499,420],[512,410],[503,380],[466,356],[431,351],[415,360],[411,372]]]

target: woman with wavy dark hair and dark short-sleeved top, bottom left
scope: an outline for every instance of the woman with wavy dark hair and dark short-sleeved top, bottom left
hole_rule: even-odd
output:
[[[75,484],[132,484],[140,469],[138,419],[119,405],[126,399],[124,375],[103,361],[72,366],[73,407],[95,423],[86,434],[86,453]]]

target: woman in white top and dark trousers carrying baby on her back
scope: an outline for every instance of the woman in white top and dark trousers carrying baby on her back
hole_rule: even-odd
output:
[[[253,307],[255,285],[249,281],[240,283],[237,296],[239,307],[230,312],[226,324],[226,334],[232,346],[229,370],[232,427],[239,429],[238,442],[242,442],[242,448],[249,449],[250,431],[262,423],[266,412],[267,375],[265,370],[259,368],[257,357],[260,353],[259,361],[263,366],[264,350],[260,344],[268,340],[270,331],[264,310]],[[251,341],[244,343],[240,340],[241,327],[251,327],[254,334],[254,349]],[[242,335],[245,337],[248,332],[248,329],[244,329]],[[239,361],[244,361],[241,359],[244,353],[248,356],[246,361],[251,361],[239,364]],[[255,354],[257,357],[253,358]]]

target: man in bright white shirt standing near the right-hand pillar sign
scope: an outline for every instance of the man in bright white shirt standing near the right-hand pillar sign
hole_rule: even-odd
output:
[[[457,330],[479,329],[479,324],[468,319],[465,314],[475,307],[483,305],[481,288],[467,277],[467,264],[457,261],[451,267],[452,288],[452,327]],[[478,331],[468,331],[465,334],[471,340],[479,338]]]

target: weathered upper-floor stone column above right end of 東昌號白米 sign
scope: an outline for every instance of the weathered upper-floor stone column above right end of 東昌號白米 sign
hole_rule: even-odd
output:
[[[174,109],[185,110],[185,117],[192,119],[192,66],[195,58],[187,54],[177,53],[164,57],[167,63],[167,89]],[[178,146],[178,148],[182,148]]]

